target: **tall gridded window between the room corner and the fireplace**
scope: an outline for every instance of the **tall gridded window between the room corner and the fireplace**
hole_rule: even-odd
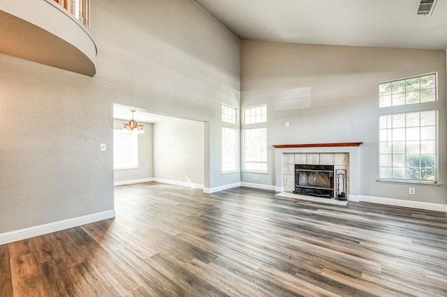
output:
[[[267,172],[267,105],[244,109],[242,170]]]

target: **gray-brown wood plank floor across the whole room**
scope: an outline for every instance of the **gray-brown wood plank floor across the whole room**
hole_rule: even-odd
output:
[[[0,245],[0,296],[447,296],[447,215],[115,187],[117,217]]]

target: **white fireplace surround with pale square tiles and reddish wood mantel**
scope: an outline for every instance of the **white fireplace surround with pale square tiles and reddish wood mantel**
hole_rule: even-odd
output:
[[[337,169],[346,169],[347,197],[359,195],[359,146],[274,146],[276,190],[277,192],[293,192],[295,190],[295,164],[334,165]],[[337,181],[334,181],[336,194]]]

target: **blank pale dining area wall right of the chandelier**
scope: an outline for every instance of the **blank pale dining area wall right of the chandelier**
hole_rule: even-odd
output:
[[[197,121],[154,123],[154,177],[203,187],[204,131],[204,123]]]

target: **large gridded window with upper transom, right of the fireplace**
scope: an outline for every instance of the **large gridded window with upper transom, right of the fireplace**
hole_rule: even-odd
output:
[[[436,75],[379,84],[381,94],[383,90],[391,90],[392,94],[381,95],[380,107],[417,104],[419,110],[379,116],[379,178],[437,183],[438,113],[425,110],[422,104],[436,100]],[[402,92],[395,97],[393,90]],[[386,99],[390,104],[383,105],[383,96],[390,96]]]

